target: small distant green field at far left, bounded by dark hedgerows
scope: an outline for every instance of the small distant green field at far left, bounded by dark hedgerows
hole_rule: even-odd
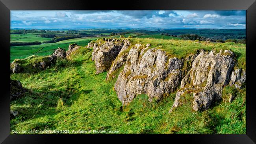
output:
[[[50,40],[51,38],[42,38],[39,35],[33,34],[11,34],[10,35],[11,42],[43,42],[45,40]]]

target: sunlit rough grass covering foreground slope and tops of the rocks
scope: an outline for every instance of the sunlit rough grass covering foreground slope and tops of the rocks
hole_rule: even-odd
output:
[[[132,38],[132,44],[148,44],[169,53],[170,57],[185,57],[196,49],[231,49],[236,53],[237,67],[242,67],[245,44],[195,43],[188,40]],[[54,45],[53,45],[54,46]],[[36,51],[36,49],[35,49]],[[161,101],[149,102],[147,95],[138,95],[122,107],[113,90],[116,78],[106,81],[107,72],[95,75],[92,49],[81,47],[72,60],[57,60],[45,71],[11,74],[22,86],[30,89],[25,97],[12,101],[11,110],[19,116],[10,121],[11,130],[118,130],[119,133],[166,134],[245,134],[246,88],[226,86],[223,95],[237,93],[232,103],[216,102],[203,112],[192,111],[187,103],[169,114],[176,92]],[[29,66],[34,59],[20,60]],[[119,74],[123,67],[116,71]],[[191,96],[192,97],[192,96]]]

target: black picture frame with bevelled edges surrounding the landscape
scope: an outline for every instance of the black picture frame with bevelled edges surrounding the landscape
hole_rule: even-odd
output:
[[[73,10],[73,9],[172,9],[172,10],[246,10],[247,38],[247,107],[246,135],[10,135],[9,124],[9,29],[10,10]],[[158,141],[207,143],[207,144],[253,144],[256,142],[256,98],[255,59],[256,50],[256,2],[255,0],[129,0],[129,1],[82,1],[82,0],[0,0],[0,37],[1,37],[1,71],[2,93],[0,96],[0,142],[9,143],[54,143],[67,139],[78,142],[77,139],[115,140],[119,142],[134,142],[134,138]],[[99,138],[101,137],[101,138]],[[117,142],[117,140],[115,140]]]

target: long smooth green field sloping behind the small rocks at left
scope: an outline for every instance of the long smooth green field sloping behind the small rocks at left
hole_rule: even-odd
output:
[[[51,55],[58,47],[67,50],[69,48],[69,44],[71,43],[76,43],[79,46],[86,46],[91,40],[95,39],[97,38],[74,38],[50,44],[40,44],[32,46],[12,46],[10,47],[10,62],[12,62],[15,59],[22,59],[32,55]]]

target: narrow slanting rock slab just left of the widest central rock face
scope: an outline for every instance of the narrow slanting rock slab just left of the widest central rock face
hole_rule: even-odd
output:
[[[124,40],[124,46],[120,50],[117,58],[113,61],[113,64],[111,65],[111,67],[109,68],[106,80],[108,80],[110,77],[114,77],[114,76],[111,76],[113,71],[115,71],[116,69],[119,69],[124,65],[124,63],[126,62],[126,58],[128,56],[128,52],[124,52],[124,51],[128,49],[130,45],[131,43],[128,40]]]

